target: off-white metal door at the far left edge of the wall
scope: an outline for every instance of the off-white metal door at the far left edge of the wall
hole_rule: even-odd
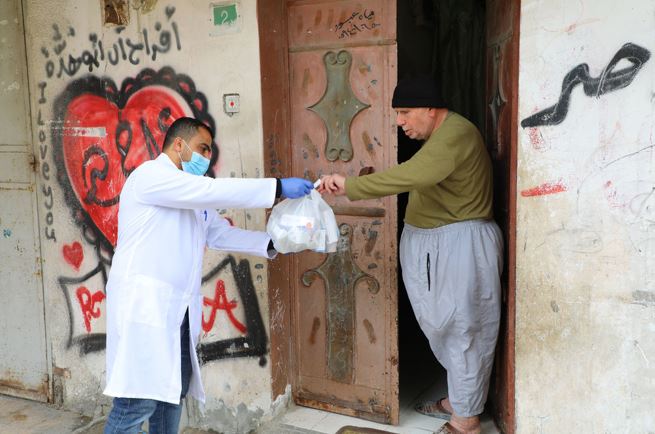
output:
[[[0,393],[45,401],[43,283],[20,0],[2,0],[0,17]]]

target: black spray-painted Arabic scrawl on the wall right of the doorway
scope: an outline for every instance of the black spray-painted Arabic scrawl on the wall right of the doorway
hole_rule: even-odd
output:
[[[617,51],[599,77],[594,78],[589,75],[589,65],[586,63],[576,66],[564,77],[562,92],[557,104],[523,119],[521,126],[529,128],[560,124],[568,113],[571,92],[578,84],[582,83],[587,96],[595,97],[623,89],[632,83],[649,58],[650,51],[639,45],[627,43]],[[621,60],[627,60],[632,65],[615,71],[615,67]]]

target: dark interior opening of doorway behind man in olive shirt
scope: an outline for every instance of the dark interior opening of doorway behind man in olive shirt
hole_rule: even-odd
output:
[[[433,77],[448,108],[473,122],[483,137],[487,109],[485,26],[484,0],[397,1],[398,80],[419,74]],[[411,158],[419,148],[419,142],[398,129],[399,163]],[[398,197],[399,239],[406,206],[407,193]],[[398,269],[401,276],[400,264]],[[416,322],[400,277],[398,322],[400,407],[447,396],[446,372]],[[494,396],[493,391],[489,396]],[[486,411],[490,413],[490,405]]]

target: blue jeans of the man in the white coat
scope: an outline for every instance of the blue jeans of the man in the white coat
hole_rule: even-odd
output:
[[[142,433],[142,425],[149,421],[150,434],[177,434],[182,416],[182,398],[189,390],[191,380],[191,354],[189,353],[189,311],[180,327],[182,348],[182,393],[178,405],[154,399],[114,398],[105,434]]]

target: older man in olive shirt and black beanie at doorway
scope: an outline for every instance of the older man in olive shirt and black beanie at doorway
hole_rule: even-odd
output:
[[[424,141],[408,161],[360,177],[322,178],[350,200],[409,192],[400,240],[414,314],[448,372],[448,397],[417,410],[450,419],[438,432],[479,433],[500,320],[502,236],[492,220],[491,161],[477,128],[448,111],[434,82],[401,81],[396,123]]]

